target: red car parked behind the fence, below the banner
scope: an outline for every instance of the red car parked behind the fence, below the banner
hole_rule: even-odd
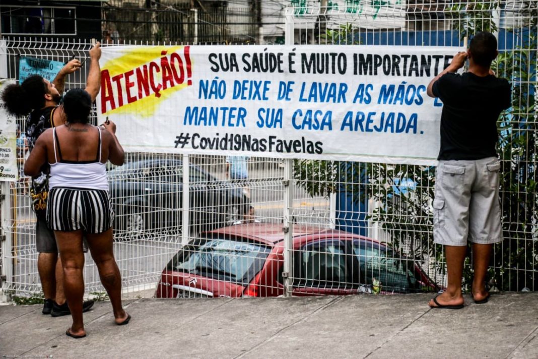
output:
[[[202,233],[162,271],[157,298],[276,297],[284,294],[284,231],[249,223]],[[438,291],[413,260],[371,238],[293,228],[293,294]]]

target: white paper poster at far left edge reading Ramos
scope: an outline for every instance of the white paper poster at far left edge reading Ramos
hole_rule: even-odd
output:
[[[0,94],[14,79],[0,79]],[[17,123],[15,116],[8,115],[0,101],[0,181],[16,181],[17,171]]]

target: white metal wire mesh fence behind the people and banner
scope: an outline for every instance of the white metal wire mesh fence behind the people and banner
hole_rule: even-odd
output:
[[[499,119],[505,241],[495,246],[489,279],[499,290],[536,290],[536,2],[302,5],[282,13],[288,44],[456,48],[479,30],[498,36],[494,67],[511,81],[513,98]],[[19,55],[67,61],[89,49],[6,40],[11,78]],[[66,88],[83,87],[84,79],[84,71],[76,73]],[[246,166],[247,178],[230,179],[225,157],[137,152],[110,168],[125,295],[153,295],[155,288],[163,298],[274,296],[285,288],[295,295],[407,293],[445,284],[432,238],[435,168],[271,158],[250,158]],[[23,179],[3,187],[3,288],[17,295],[40,291],[25,186]],[[103,291],[89,256],[84,278],[87,293]]]

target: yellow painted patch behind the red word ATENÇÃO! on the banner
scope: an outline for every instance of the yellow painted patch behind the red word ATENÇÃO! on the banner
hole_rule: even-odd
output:
[[[121,50],[120,52],[125,52],[125,54],[105,62],[105,64],[101,67],[101,71],[108,70],[110,73],[110,78],[112,78],[116,75],[123,74],[130,70],[136,69],[137,67],[146,65],[151,61],[159,62],[160,64],[160,59],[162,57],[161,51],[166,51],[165,56],[169,56],[173,52],[182,50],[184,47],[185,46],[144,46],[137,47],[135,50]],[[191,57],[191,66],[193,66],[192,64],[193,61]],[[162,81],[162,71],[155,74],[155,82],[159,83],[159,81]],[[167,100],[167,98],[172,96],[172,94],[174,94],[176,91],[186,87],[187,78],[185,79],[185,82],[181,83],[180,85],[169,87],[165,90],[161,89],[159,91],[160,97],[155,96],[155,94],[151,94],[150,96],[146,96],[132,103],[125,103],[127,100],[124,98],[124,105],[122,107],[117,107],[114,110],[108,110],[107,112],[104,112],[104,114],[136,113],[141,117],[150,117],[153,115],[153,112],[155,112],[158,105],[162,101]],[[101,91],[104,91],[104,89],[101,89]]]

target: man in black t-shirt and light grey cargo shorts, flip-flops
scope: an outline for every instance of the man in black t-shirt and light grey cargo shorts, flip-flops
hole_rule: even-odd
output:
[[[493,243],[502,241],[499,203],[500,162],[495,151],[497,119],[510,107],[508,81],[491,71],[497,39],[489,32],[472,38],[469,50],[428,85],[430,97],[443,101],[441,149],[435,179],[434,242],[443,244],[448,286],[430,300],[432,308],[463,308],[462,276],[467,242],[472,243],[472,299],[485,303],[485,288]],[[469,72],[456,74],[469,59]]]

